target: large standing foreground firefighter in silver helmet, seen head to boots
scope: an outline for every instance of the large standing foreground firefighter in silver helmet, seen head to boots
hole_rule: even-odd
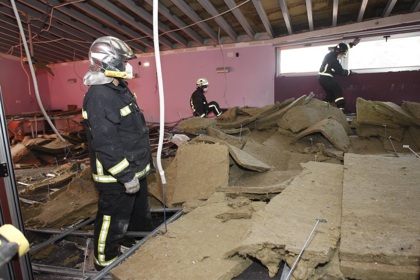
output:
[[[132,77],[127,62],[131,48],[120,39],[101,37],[89,50],[89,85],[83,99],[92,176],[99,193],[94,229],[97,270],[118,257],[127,228],[152,231],[146,176],[153,161],[149,129],[124,79]]]

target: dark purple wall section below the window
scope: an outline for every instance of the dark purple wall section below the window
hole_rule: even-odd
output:
[[[335,79],[343,89],[346,108],[353,113],[356,113],[357,97],[372,101],[391,101],[398,105],[402,101],[420,102],[420,71],[358,73],[336,76]],[[274,79],[274,101],[282,102],[310,92],[315,94],[315,98],[322,100],[325,97],[317,76],[286,76]]]

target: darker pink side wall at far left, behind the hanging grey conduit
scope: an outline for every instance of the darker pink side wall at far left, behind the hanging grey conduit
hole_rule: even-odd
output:
[[[28,76],[22,69],[20,60],[0,57],[0,86],[6,115],[18,115],[23,112],[40,111],[36,100],[32,75],[29,65],[24,64],[26,72],[30,77],[31,95],[29,94]],[[48,88],[48,77],[51,76],[46,70],[36,72],[39,87],[39,96],[44,107],[47,107],[50,91]],[[18,102],[16,102],[18,101]],[[20,102],[19,102],[20,101]]]

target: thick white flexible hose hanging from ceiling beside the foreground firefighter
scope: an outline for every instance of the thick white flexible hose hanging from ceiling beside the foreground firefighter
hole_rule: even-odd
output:
[[[160,125],[159,125],[159,145],[157,146],[157,170],[159,170],[160,179],[165,184],[165,172],[160,162],[163,145],[163,130],[165,126],[165,99],[163,96],[163,82],[162,82],[162,69],[160,68],[160,54],[159,54],[159,34],[158,34],[158,19],[157,19],[157,7],[159,5],[158,0],[153,0],[153,43],[155,45],[155,60],[156,60],[156,72],[157,72],[157,84],[159,85],[159,102],[160,102]]]

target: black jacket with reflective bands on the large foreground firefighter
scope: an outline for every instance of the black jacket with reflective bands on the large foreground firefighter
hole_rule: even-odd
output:
[[[92,85],[83,99],[92,176],[97,189],[125,191],[123,183],[154,167],[149,129],[134,96],[122,86]]]

